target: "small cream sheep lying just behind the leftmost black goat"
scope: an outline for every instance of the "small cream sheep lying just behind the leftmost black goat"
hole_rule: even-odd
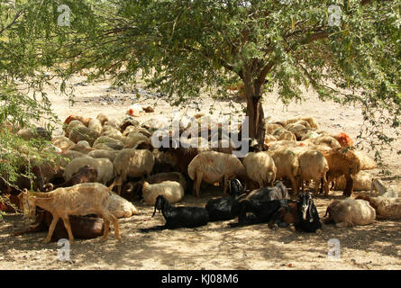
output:
[[[142,185],[143,201],[154,205],[156,198],[164,195],[171,203],[180,202],[184,198],[184,188],[176,181],[163,181],[158,184],[144,182]]]

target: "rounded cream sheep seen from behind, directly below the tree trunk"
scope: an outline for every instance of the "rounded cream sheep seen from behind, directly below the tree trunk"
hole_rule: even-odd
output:
[[[251,180],[257,182],[260,187],[268,184],[272,186],[276,180],[277,167],[273,158],[265,151],[247,153],[242,164]]]

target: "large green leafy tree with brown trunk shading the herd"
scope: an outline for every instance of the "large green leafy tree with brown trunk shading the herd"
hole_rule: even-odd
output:
[[[323,101],[361,103],[379,140],[394,139],[378,124],[399,127],[396,1],[35,0],[25,8],[15,33],[32,35],[34,67],[64,80],[87,68],[89,79],[135,84],[141,72],[176,104],[205,87],[224,96],[242,80],[250,136],[260,142],[263,92],[276,88],[287,103],[302,100],[300,85]]]

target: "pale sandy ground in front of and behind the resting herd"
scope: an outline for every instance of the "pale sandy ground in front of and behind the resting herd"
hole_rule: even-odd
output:
[[[96,85],[77,85],[76,103],[70,106],[68,99],[49,90],[54,112],[64,120],[69,114],[94,117],[104,112],[111,117],[122,117],[132,103],[154,107],[154,113],[169,114],[169,103],[154,94],[145,94],[137,99],[132,93],[113,89],[107,82]],[[360,130],[360,107],[343,107],[336,103],[321,103],[316,95],[305,91],[305,103],[290,103],[285,107],[277,101],[276,94],[268,94],[264,109],[275,120],[289,119],[299,115],[311,115],[321,128],[331,132],[346,131],[356,137]],[[227,112],[229,101],[202,99],[202,110]],[[241,111],[243,104],[232,103]],[[195,112],[195,105],[187,112]],[[141,118],[141,120],[142,120]],[[60,133],[60,128],[55,133]],[[401,147],[400,139],[395,144]],[[394,151],[383,150],[385,163],[391,175],[381,175],[379,169],[369,171],[384,180],[384,183],[401,194],[401,166]],[[186,195],[183,205],[204,206],[211,197],[221,196],[220,187],[205,186],[201,199]],[[321,218],[333,199],[342,199],[342,192],[328,197],[317,196],[314,202]],[[231,221],[208,223],[197,229],[175,229],[141,232],[141,228],[162,225],[160,213],[151,218],[152,207],[134,202],[139,215],[119,220],[122,240],[117,241],[112,232],[102,242],[100,238],[76,241],[70,247],[70,261],[60,261],[56,242],[43,244],[46,233],[25,234],[13,237],[13,231],[27,227],[30,220],[22,215],[11,214],[0,220],[0,269],[400,269],[401,268],[401,222],[399,220],[376,220],[374,224],[338,229],[324,225],[315,234],[297,233],[291,229],[271,230],[267,224],[241,228],[230,228]],[[328,257],[330,239],[338,239],[338,258]]]

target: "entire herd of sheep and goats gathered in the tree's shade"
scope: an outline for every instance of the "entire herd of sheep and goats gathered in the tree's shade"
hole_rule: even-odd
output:
[[[57,158],[30,158],[33,180],[23,176],[26,166],[13,185],[1,177],[0,209],[21,209],[35,217],[29,229],[14,235],[48,230],[45,242],[101,235],[105,240],[111,223],[120,239],[117,219],[137,214],[133,202],[139,200],[154,206],[153,216],[161,211],[165,218],[165,225],[141,231],[238,218],[232,227],[269,223],[271,229],[315,232],[322,223],[312,196],[327,196],[331,190],[342,190],[345,199],[328,205],[325,223],[351,227],[401,219],[397,194],[366,172],[375,162],[356,150],[346,133],[320,130],[313,117],[269,122],[264,143],[245,139],[249,152],[234,157],[239,148],[222,137],[223,126],[208,116],[196,114],[186,127],[169,130],[170,145],[159,148],[151,140],[159,127],[130,115],[121,120],[105,114],[70,115],[64,121],[64,136],[51,137],[40,127],[15,131],[23,139],[50,140]],[[208,124],[202,125],[206,119]],[[182,136],[188,129],[197,133],[181,137],[180,144],[187,145],[174,145],[172,135]],[[205,207],[174,205],[186,193],[201,197],[202,183],[222,185],[223,197],[209,200]],[[355,197],[354,190],[375,190],[378,195]]]

